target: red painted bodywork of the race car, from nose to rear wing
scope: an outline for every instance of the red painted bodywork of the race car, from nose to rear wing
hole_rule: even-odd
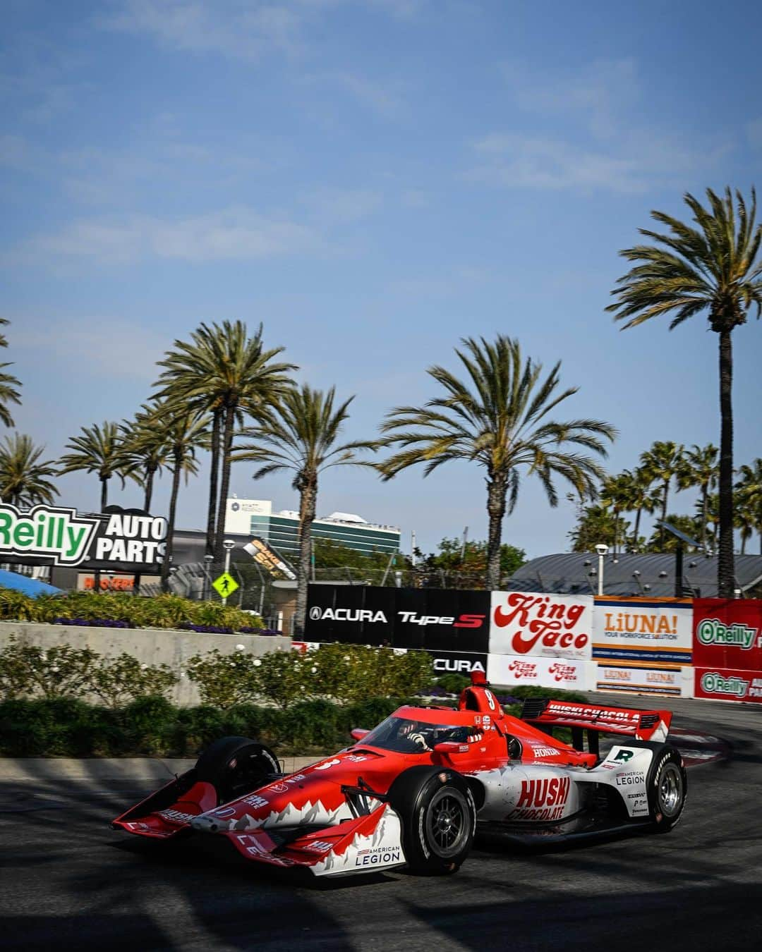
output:
[[[630,736],[641,736],[642,731],[648,733],[650,729],[641,727],[643,712],[640,711],[586,704],[567,704],[567,709],[562,711],[551,707],[552,704],[556,703],[548,704],[536,720],[582,725]],[[651,713],[660,724],[669,725],[672,716],[669,712]],[[511,760],[519,760],[523,765],[583,769],[595,766],[598,761],[594,753],[576,750],[526,721],[505,714],[484,683],[467,687],[461,693],[456,710],[404,706],[398,708],[392,718],[456,730],[462,728],[463,739],[444,741],[434,744],[433,749],[415,752],[376,746],[372,743],[373,735],[391,721],[388,719],[374,731],[352,731],[356,743],[333,757],[271,780],[231,803],[217,803],[211,783],[191,783],[181,796],[172,799],[172,786],[181,783],[180,778],[132,807],[112,825],[137,836],[162,839],[192,829],[201,830],[227,837],[248,859],[278,866],[314,866],[327,854],[340,858],[350,845],[356,848],[364,838],[371,842],[373,836],[380,835],[379,829],[383,834],[384,823],[397,822],[393,815],[390,818],[387,804],[378,800],[369,813],[354,815],[348,806],[347,787],[367,787],[372,802],[372,792],[386,794],[395,778],[416,764],[449,767],[474,777],[505,766]],[[284,843],[280,835],[284,829],[299,832]],[[371,859],[375,855],[371,850],[365,852]],[[378,855],[383,859],[387,854]]]

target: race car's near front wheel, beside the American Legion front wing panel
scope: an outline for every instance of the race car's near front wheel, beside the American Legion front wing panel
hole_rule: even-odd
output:
[[[402,848],[411,872],[454,873],[469,855],[476,829],[471,788],[454,770],[410,767],[389,788],[402,824]]]

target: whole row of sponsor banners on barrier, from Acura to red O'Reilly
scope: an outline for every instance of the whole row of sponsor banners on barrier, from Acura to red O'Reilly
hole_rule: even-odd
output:
[[[762,601],[311,585],[304,644],[425,649],[438,673],[762,703]]]

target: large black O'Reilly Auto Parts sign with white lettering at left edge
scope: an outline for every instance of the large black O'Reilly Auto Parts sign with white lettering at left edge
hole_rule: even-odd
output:
[[[0,562],[151,572],[166,546],[167,520],[142,509],[108,506],[82,516],[65,506],[22,512],[0,504]]]

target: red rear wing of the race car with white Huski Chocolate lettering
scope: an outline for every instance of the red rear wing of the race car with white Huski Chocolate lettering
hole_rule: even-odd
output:
[[[521,720],[540,724],[551,733],[553,727],[571,727],[572,744],[583,750],[583,731],[588,732],[588,749],[598,752],[598,734],[625,734],[636,741],[666,741],[672,711],[641,711],[628,707],[600,707],[571,701],[527,698]]]

